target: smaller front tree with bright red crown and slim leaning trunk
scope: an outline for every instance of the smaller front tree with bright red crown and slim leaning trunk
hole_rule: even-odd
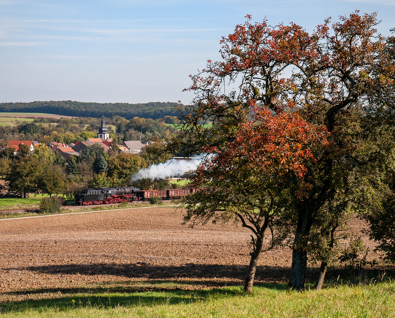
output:
[[[239,125],[226,148],[206,148],[215,155],[188,173],[195,186],[205,189],[184,199],[185,221],[193,226],[236,218],[254,234],[247,292],[252,290],[265,231],[273,231],[273,221],[282,215],[289,196],[303,199],[310,191],[314,176],[307,174],[314,170],[318,154],[330,146],[328,137],[324,126],[307,123],[296,113],[273,115],[255,107],[253,119]],[[273,247],[276,240],[273,235],[265,248]]]

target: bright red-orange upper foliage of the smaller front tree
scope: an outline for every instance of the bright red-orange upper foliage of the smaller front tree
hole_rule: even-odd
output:
[[[309,173],[314,171],[317,155],[328,152],[333,143],[329,137],[325,125],[308,123],[295,112],[274,114],[255,107],[253,119],[239,125],[235,139],[224,150],[205,148],[216,154],[200,166],[202,179],[196,181],[207,181],[205,172],[216,180],[227,178],[242,164],[274,186],[296,178],[295,195],[303,198],[312,187],[314,176]]]

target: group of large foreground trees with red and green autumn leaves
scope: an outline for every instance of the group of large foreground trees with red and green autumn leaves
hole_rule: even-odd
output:
[[[222,38],[222,60],[191,76],[195,99],[168,146],[211,154],[186,175],[210,191],[184,198],[185,222],[250,229],[247,292],[261,251],[287,242],[290,288],[304,289],[308,259],[321,264],[321,288],[329,264],[363,251],[347,231],[355,216],[395,260],[394,37],[377,33],[375,13],[327,19],[312,34],[246,17]]]

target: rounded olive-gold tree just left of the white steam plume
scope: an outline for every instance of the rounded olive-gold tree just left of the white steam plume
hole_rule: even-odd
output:
[[[132,174],[148,165],[143,158],[134,153],[118,153],[108,161],[107,174],[124,182],[129,181]]]

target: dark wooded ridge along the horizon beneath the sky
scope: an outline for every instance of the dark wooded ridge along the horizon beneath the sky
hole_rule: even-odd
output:
[[[47,114],[75,117],[109,118],[118,115],[126,119],[133,117],[158,119],[164,116],[179,116],[174,109],[177,103],[150,102],[128,103],[83,103],[79,101],[34,101],[31,103],[0,103],[0,112],[43,112]]]

